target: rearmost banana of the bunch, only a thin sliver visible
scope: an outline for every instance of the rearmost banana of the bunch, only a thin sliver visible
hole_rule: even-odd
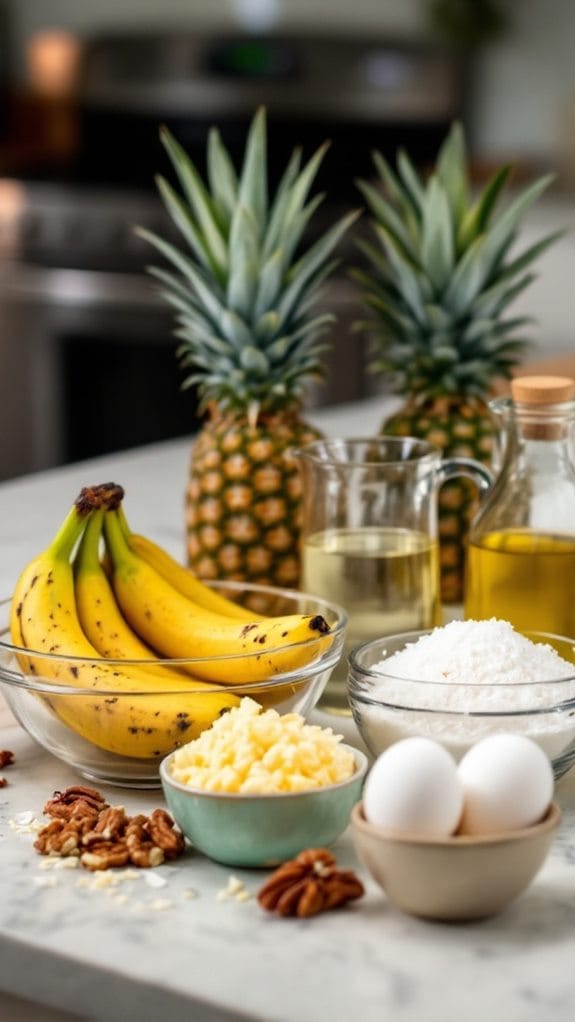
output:
[[[246,610],[245,607],[241,607],[239,604],[234,603],[233,600],[228,600],[221,593],[210,589],[209,586],[201,582],[200,578],[184,567],[183,564],[179,564],[166,550],[163,550],[162,547],[159,547],[152,540],[148,539],[148,537],[132,532],[122,509],[118,510],[118,517],[124,533],[134,553],[138,557],[141,557],[143,561],[146,561],[147,564],[150,564],[182,596],[187,596],[188,599],[193,600],[198,606],[203,607],[205,610],[212,610],[217,614],[236,617],[242,621],[263,620],[261,614]]]

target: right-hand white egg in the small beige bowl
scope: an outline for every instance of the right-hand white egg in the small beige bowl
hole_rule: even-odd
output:
[[[461,760],[459,775],[464,789],[461,833],[530,827],[553,798],[550,762],[524,735],[490,735],[477,742]]]

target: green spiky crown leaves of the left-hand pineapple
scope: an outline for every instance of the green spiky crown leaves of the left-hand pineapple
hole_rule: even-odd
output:
[[[323,376],[334,317],[314,313],[318,289],[333,271],[332,253],[360,215],[342,217],[305,247],[305,229],[323,199],[309,197],[327,150],[302,166],[294,149],[269,194],[266,110],[254,114],[236,171],[217,128],[209,131],[206,174],[162,128],[160,139],[179,188],[156,179],[183,247],[137,228],[169,266],[148,267],[172,306],[183,387],[196,386],[202,409],[275,410],[301,400],[305,381]]]

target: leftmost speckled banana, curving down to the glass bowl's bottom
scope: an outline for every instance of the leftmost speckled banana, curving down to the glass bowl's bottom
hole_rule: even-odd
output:
[[[202,682],[177,677],[166,682],[151,667],[142,671],[138,663],[102,660],[78,617],[70,564],[91,513],[93,506],[79,499],[54,541],[25,568],[12,601],[12,641],[36,654],[23,658],[25,669],[61,687],[87,690],[86,696],[68,696],[60,688],[45,697],[77,734],[109,752],[160,758],[197,737],[238,699]]]

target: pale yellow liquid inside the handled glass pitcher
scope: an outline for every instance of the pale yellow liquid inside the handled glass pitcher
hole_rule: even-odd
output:
[[[347,654],[369,639],[440,621],[437,543],[404,528],[333,528],[306,538],[302,588],[349,616],[340,662],[320,707],[347,711]]]

